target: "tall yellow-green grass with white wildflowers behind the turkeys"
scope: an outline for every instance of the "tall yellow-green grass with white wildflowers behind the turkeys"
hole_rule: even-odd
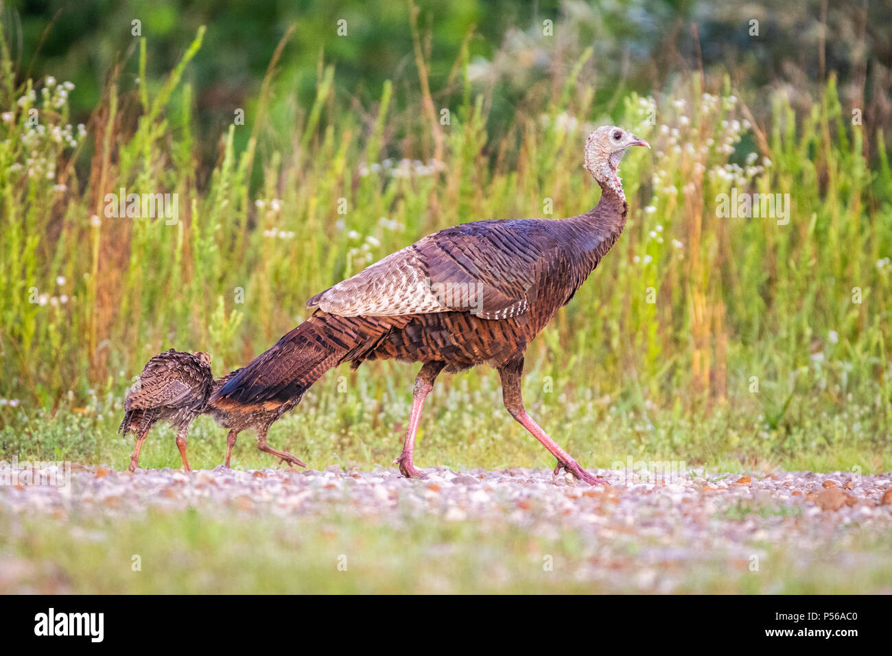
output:
[[[717,457],[711,441],[740,458],[845,441],[888,463],[892,171],[882,134],[852,125],[832,78],[806,115],[780,93],[751,98],[772,104],[761,128],[747,120],[746,88],[698,74],[654,97],[625,95],[605,116],[577,77],[589,51],[493,142],[491,98],[468,81],[466,54],[448,125],[430,115],[424,75],[417,112],[396,108],[386,84],[360,115],[334,67],[320,66],[316,102],[274,131],[271,66],[257,112],[220,135],[206,172],[184,82],[201,42],[202,31],[155,82],[142,41],[142,74],[132,83],[111,71],[80,131],[66,100],[76,90],[17,84],[0,43],[0,423],[18,427],[7,449],[37,448],[33,435],[12,438],[37,409],[101,417],[96,430],[107,430],[131,378],[170,346],[211,351],[218,373],[243,365],[306,316],[310,295],[436,229],[590,209],[599,192],[582,144],[614,122],[653,150],[623,163],[623,237],[528,351],[528,404],[596,452],[617,439],[677,453],[684,425],[700,459]],[[416,62],[424,71],[420,48]],[[241,151],[237,130],[251,133]],[[731,187],[789,194],[789,224],[717,216]],[[106,217],[105,195],[120,188],[178,194],[178,222]],[[357,426],[370,440],[396,434],[414,374],[391,362],[330,373],[293,421],[303,436],[333,432],[332,450]],[[473,433],[475,412],[500,411],[486,371],[438,388],[448,392],[428,420],[450,432]]]

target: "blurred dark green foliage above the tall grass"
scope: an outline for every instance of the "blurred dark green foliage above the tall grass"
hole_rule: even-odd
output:
[[[874,127],[886,126],[890,109],[889,66],[892,2],[827,3],[809,0],[760,4],[664,0],[582,2],[546,0],[458,0],[417,2],[425,61],[434,99],[442,106],[459,100],[459,54],[467,56],[475,90],[490,89],[487,129],[501,137],[531,88],[555,90],[585,47],[593,54],[583,79],[595,88],[594,107],[610,111],[628,91],[648,94],[701,66],[733,71],[732,81],[764,93],[787,87],[799,109],[807,107],[830,71],[840,80],[844,100],[866,110]],[[125,65],[122,81],[134,85],[136,38],[141,21],[150,45],[150,80],[161,79],[179,61],[196,30],[209,26],[202,50],[186,79],[194,85],[194,121],[205,164],[232,122],[235,107],[257,102],[260,80],[285,29],[293,26],[275,80],[278,104],[271,113],[278,129],[294,120],[294,107],[316,95],[319,67],[334,63],[335,97],[357,108],[394,85],[394,107],[417,111],[417,71],[409,30],[409,3],[369,2],[7,2],[5,20],[12,54],[21,73],[54,75],[78,88],[72,116],[86,121],[98,104],[108,71]],[[338,21],[347,35],[338,35]],[[750,21],[758,36],[750,36]],[[551,21],[553,37],[543,35]],[[694,31],[696,29],[696,32]],[[463,46],[467,52],[463,52]],[[293,99],[293,105],[287,102]],[[758,118],[769,107],[755,104]],[[888,132],[888,130],[887,130]],[[235,145],[247,135],[236,132]]]

